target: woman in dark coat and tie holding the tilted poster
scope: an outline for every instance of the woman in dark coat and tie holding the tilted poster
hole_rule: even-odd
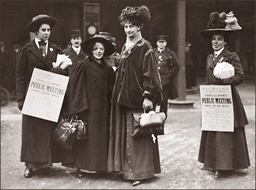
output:
[[[38,15],[27,26],[28,31],[36,34],[36,38],[22,45],[17,54],[16,93],[20,110],[22,110],[34,68],[68,75],[65,70],[52,67],[52,62],[56,62],[57,54],[62,54],[60,47],[48,40],[55,24],[54,17]],[[44,52],[40,51],[41,42],[46,42]],[[44,171],[51,175],[49,167],[52,163],[61,162],[62,150],[51,140],[51,131],[56,124],[49,120],[22,115],[20,161],[25,162],[24,177],[31,177],[35,168],[46,168]]]

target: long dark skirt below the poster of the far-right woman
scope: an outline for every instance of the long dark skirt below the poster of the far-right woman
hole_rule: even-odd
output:
[[[204,168],[244,169],[250,166],[244,127],[234,132],[202,131],[198,161]]]

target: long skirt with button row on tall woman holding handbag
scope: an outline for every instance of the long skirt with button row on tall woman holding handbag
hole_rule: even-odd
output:
[[[114,105],[111,111],[108,171],[122,171],[129,180],[141,180],[160,173],[159,147],[152,137],[133,138],[132,110]]]

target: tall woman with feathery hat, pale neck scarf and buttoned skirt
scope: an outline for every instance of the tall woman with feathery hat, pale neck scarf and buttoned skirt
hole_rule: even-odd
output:
[[[127,6],[119,17],[127,40],[122,47],[112,96],[108,171],[122,171],[133,186],[160,173],[157,138],[132,137],[132,113],[150,110],[161,101],[161,81],[156,56],[141,28],[150,19],[146,6]]]

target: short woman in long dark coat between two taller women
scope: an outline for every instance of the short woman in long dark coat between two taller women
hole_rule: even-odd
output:
[[[111,95],[115,71],[104,61],[104,56],[115,52],[114,45],[99,35],[81,45],[89,54],[74,66],[68,84],[68,113],[88,123],[88,138],[74,141],[66,154],[64,166],[76,167],[77,176],[84,172],[106,171],[109,142]]]

